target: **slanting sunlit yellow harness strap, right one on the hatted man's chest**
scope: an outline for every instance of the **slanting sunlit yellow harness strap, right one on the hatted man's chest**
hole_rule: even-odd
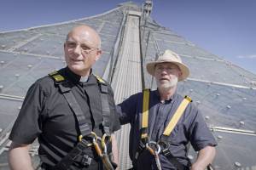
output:
[[[163,133],[164,135],[169,136],[172,133],[173,128],[176,126],[180,117],[183,116],[183,112],[191,101],[192,99],[189,98],[189,96],[184,97],[182,103],[178,106],[177,111],[172,116],[171,121],[168,123],[165,132]]]

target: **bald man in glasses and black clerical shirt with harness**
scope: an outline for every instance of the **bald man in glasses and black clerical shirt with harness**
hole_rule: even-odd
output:
[[[9,167],[33,169],[29,146],[38,139],[45,170],[114,169],[113,133],[120,128],[108,82],[92,74],[101,38],[90,26],[74,27],[64,43],[66,68],[28,89],[9,139]],[[103,141],[103,142],[102,142]]]

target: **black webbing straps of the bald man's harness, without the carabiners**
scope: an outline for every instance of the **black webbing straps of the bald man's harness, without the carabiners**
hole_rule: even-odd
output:
[[[104,133],[106,133],[109,136],[111,134],[112,129],[110,129],[110,109],[108,104],[108,87],[105,84],[105,82],[102,80],[102,78],[97,77],[96,75],[94,76],[96,77],[101,88],[102,117],[103,117],[102,126],[104,128]],[[55,169],[66,170],[72,165],[73,161],[78,161],[78,158],[84,166],[88,166],[90,165],[91,158],[90,157],[88,158],[88,156],[83,153],[83,150],[89,147],[89,144],[90,144],[89,142],[87,142],[86,139],[84,139],[84,137],[90,136],[90,134],[92,133],[89,124],[86,122],[88,117],[86,118],[84,116],[84,113],[81,110],[81,107],[79,106],[78,101],[75,99],[73,93],[71,92],[72,82],[67,82],[65,80],[65,77],[62,77],[61,74],[57,71],[49,73],[49,77],[52,77],[55,80],[55,84],[60,88],[61,94],[63,94],[64,98],[67,100],[69,107],[72,109],[72,111],[74,112],[77,118],[77,121],[79,122],[79,130],[80,130],[79,143],[73,148],[73,150],[67,153],[67,155],[61,159],[61,161],[59,161],[56,164]],[[90,93],[93,93],[93,92],[90,92]],[[81,158],[82,153],[84,155]],[[104,160],[106,159],[107,158],[105,156]],[[108,167],[110,167],[108,169],[113,169],[112,165],[108,165]]]

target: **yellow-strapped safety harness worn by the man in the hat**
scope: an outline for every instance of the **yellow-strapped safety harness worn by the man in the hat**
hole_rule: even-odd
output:
[[[135,155],[135,161],[133,162],[135,166],[137,166],[137,161],[143,150],[148,150],[154,156],[156,165],[159,170],[161,170],[159,154],[163,154],[166,158],[177,167],[178,170],[184,169],[182,163],[177,161],[177,159],[172,156],[171,151],[169,150],[170,141],[168,141],[168,137],[172,133],[173,128],[177,125],[178,120],[181,116],[183,116],[183,112],[186,107],[192,102],[192,99],[189,96],[185,96],[181,104],[177,107],[177,111],[173,114],[170,122],[166,126],[164,133],[160,136],[160,140],[158,142],[152,141],[148,139],[148,105],[149,105],[149,95],[150,90],[143,90],[143,120],[142,120],[142,128],[141,128],[141,140],[137,149],[137,153]]]

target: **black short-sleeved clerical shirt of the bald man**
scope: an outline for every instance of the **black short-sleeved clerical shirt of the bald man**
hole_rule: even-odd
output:
[[[102,136],[101,92],[96,77],[91,74],[87,82],[79,82],[80,77],[68,68],[59,72],[73,82],[71,91],[84,112],[87,123],[97,135]],[[88,92],[89,87],[93,92]],[[113,90],[109,85],[108,92],[110,128],[116,131],[120,128],[119,116],[116,115]],[[96,111],[94,113],[90,109],[91,103]],[[51,77],[43,77],[29,88],[9,139],[18,144],[31,144],[38,137],[41,161],[54,166],[77,144],[78,135],[78,122],[60,89]],[[88,149],[86,153],[96,157],[92,149]]]

